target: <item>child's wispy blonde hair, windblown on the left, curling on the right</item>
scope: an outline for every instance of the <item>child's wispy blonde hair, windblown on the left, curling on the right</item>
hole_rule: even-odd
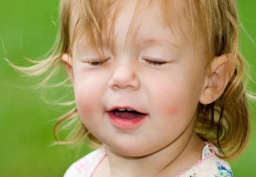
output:
[[[161,2],[163,14],[168,25],[170,25],[170,20],[168,20],[171,15],[169,9],[170,1],[163,0]],[[151,1],[149,1],[150,3]],[[250,136],[250,116],[247,97],[252,100],[256,99],[255,96],[246,92],[248,77],[250,76],[245,68],[248,69],[249,64],[238,51],[240,24],[237,4],[235,0],[188,0],[187,3],[190,9],[193,43],[195,41],[195,29],[198,28],[205,40],[205,53],[206,58],[208,58],[207,65],[210,67],[209,63],[212,61],[212,58],[222,54],[230,54],[228,65],[235,64],[235,71],[223,94],[211,104],[203,105],[200,102],[198,103],[198,115],[194,128],[195,132],[203,140],[210,141],[219,148],[221,152],[219,155],[217,154],[219,157],[232,159],[242,152]],[[38,85],[43,87],[61,66],[62,54],[68,53],[72,56],[74,43],[83,34],[87,35],[88,41],[90,41],[94,48],[96,48],[95,46],[98,43],[102,44],[103,23],[110,5],[110,0],[62,0],[60,31],[52,54],[40,61],[28,59],[30,62],[35,63],[29,67],[16,66],[8,59],[7,61],[14,69],[28,76],[40,76],[48,70],[52,70]],[[74,8],[78,8],[76,11],[77,17],[74,28],[70,29],[70,18]],[[113,17],[112,26],[115,15],[116,12]],[[246,76],[245,83],[242,81],[243,74]],[[64,84],[65,81],[56,86]],[[66,105],[74,104],[74,101],[66,103]],[[65,120],[70,122],[63,128],[70,126],[75,121],[77,123],[64,141],[58,141],[57,127]],[[75,106],[59,118],[54,127],[54,135],[57,140],[54,144],[73,144],[83,139],[85,141],[88,140],[87,144],[92,148],[102,145],[102,142],[94,137],[83,125]]]

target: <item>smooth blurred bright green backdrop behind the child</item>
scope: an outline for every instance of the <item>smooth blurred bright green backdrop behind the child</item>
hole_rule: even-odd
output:
[[[0,37],[12,62],[29,65],[24,60],[25,55],[38,58],[53,46],[58,31],[58,8],[58,0],[0,1]],[[238,8],[246,30],[241,30],[241,52],[251,65],[255,65],[256,46],[250,37],[256,40],[256,1],[239,0]],[[38,78],[21,77],[8,66],[4,57],[4,48],[0,45],[0,176],[63,176],[72,162],[92,149],[85,145],[49,146],[54,141],[56,118],[70,107],[49,105],[41,98],[41,89],[26,89],[38,83]],[[252,68],[255,71],[255,67]],[[67,75],[62,68],[52,82],[62,81],[64,76]],[[256,92],[256,84],[252,81],[248,88]],[[67,90],[50,88],[43,93],[51,101],[65,96]],[[255,110],[251,105],[250,144],[240,157],[230,161],[235,177],[256,176]]]

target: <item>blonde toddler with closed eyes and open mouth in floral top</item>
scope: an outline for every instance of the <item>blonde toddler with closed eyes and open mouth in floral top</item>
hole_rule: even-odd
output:
[[[57,142],[94,148],[64,177],[233,176],[225,159],[250,134],[235,0],[61,0],[60,9],[52,55],[10,64],[28,75],[54,68],[42,84],[64,64],[75,107],[54,133],[79,122]]]

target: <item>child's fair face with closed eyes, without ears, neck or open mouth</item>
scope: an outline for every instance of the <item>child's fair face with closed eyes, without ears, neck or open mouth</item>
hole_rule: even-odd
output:
[[[84,62],[97,56],[86,49],[85,41],[81,40],[73,58],[71,80],[77,110],[85,127],[110,148],[125,155],[141,156],[167,146],[184,131],[193,129],[205,59],[202,46],[193,52],[192,30],[183,14],[186,9],[182,9],[185,8],[182,3],[172,12],[177,14],[174,16],[177,18],[172,19],[175,34],[167,33],[160,6],[154,2],[141,17],[136,38],[129,40],[132,47],[124,50],[135,3],[123,4],[117,16],[115,46],[105,48],[111,56],[105,64],[92,66]],[[182,40],[178,21],[187,34],[187,41]],[[135,21],[134,25],[136,29],[138,23]],[[144,59],[167,63],[154,66]],[[118,129],[111,124],[106,112],[113,106],[131,106],[148,116],[136,129]]]

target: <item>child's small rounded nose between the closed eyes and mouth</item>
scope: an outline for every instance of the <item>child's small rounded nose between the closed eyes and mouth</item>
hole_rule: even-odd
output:
[[[121,61],[116,63],[112,77],[109,80],[109,87],[113,90],[130,89],[137,90],[140,86],[136,74],[136,66],[131,61]]]

